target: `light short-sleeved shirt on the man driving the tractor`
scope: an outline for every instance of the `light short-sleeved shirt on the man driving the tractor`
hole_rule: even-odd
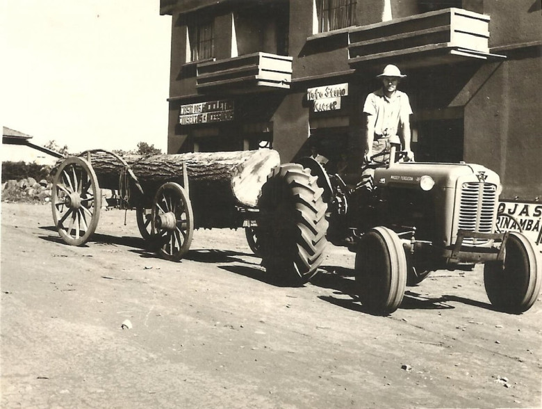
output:
[[[386,97],[384,90],[379,89],[367,95],[363,112],[375,115],[376,135],[397,135],[401,122],[405,122],[412,113],[409,96],[396,90],[391,98]]]

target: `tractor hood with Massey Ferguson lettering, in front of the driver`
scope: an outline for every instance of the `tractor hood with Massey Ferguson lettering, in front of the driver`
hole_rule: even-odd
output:
[[[399,162],[389,168],[375,169],[375,186],[402,185],[420,186],[424,176],[432,177],[440,188],[454,188],[457,179],[473,177],[479,182],[500,186],[499,176],[481,165],[473,163],[432,163],[432,162]]]

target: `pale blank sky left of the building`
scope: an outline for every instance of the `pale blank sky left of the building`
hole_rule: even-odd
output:
[[[69,152],[167,147],[171,16],[159,0],[4,0],[3,126]]]

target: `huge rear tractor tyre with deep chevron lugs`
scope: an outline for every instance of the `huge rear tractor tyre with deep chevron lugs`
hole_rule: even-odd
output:
[[[266,270],[291,284],[310,280],[326,246],[327,205],[309,169],[275,168],[258,202],[258,244]]]

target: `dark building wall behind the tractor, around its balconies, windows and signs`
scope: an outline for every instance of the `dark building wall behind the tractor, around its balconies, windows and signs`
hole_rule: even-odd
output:
[[[197,2],[184,3],[195,8]],[[267,26],[260,26],[251,24],[246,17],[241,18],[235,24],[238,29],[233,31],[232,10],[214,8],[215,3],[208,1],[202,4],[212,4],[209,13],[213,13],[212,10],[217,13],[217,59],[258,48],[256,51],[272,52],[277,47],[272,40],[276,33],[271,29],[271,20]],[[358,25],[381,22],[384,3],[384,0],[359,1],[356,9]],[[445,6],[489,15],[491,52],[507,57],[504,61],[471,58],[472,61],[432,67],[421,64],[404,70],[408,77],[402,81],[400,89],[411,98],[413,147],[418,160],[480,163],[500,173],[505,198],[518,196],[532,200],[542,197],[539,161],[542,152],[540,1],[390,0],[390,6],[394,19]],[[239,145],[243,132],[247,132],[247,124],[270,122],[273,147],[280,152],[283,162],[308,152],[307,144],[313,137],[321,141],[336,138],[338,143],[345,143],[352,168],[358,167],[363,135],[363,99],[380,86],[375,75],[381,66],[353,69],[348,63],[347,30],[315,34],[313,7],[311,0],[290,0],[288,48],[289,55],[293,57],[290,90],[273,90],[252,96],[243,93],[198,95],[195,64],[186,64],[186,16],[174,15],[168,152],[194,149],[194,143],[202,141],[197,138],[208,138],[206,141],[211,142],[215,138],[217,147],[223,146],[223,138],[237,138],[233,145]],[[234,33],[236,43],[232,48]],[[306,90],[336,83],[347,83],[350,88],[340,111],[315,113],[306,99]],[[244,111],[240,111],[235,122],[192,128],[179,126],[181,104],[221,98],[235,99],[236,106],[243,106]],[[268,103],[268,111],[262,107],[252,108]],[[197,135],[189,136],[190,132]]]

